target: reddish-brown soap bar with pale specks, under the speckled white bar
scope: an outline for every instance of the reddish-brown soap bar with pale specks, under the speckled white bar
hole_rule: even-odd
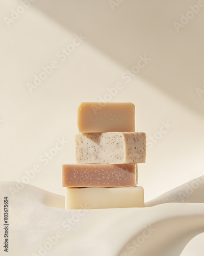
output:
[[[137,164],[64,164],[63,187],[127,187],[137,185]]]

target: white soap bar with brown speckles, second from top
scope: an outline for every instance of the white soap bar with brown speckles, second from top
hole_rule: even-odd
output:
[[[80,164],[145,162],[145,133],[78,133],[75,141]]]

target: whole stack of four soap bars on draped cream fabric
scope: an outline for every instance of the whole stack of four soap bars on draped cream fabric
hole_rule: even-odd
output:
[[[135,105],[83,102],[78,129],[77,164],[63,165],[65,208],[144,207],[137,164],[145,162],[146,135],[135,132]]]

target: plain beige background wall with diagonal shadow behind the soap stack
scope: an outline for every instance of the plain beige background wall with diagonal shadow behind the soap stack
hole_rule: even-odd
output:
[[[136,105],[136,131],[148,138],[147,161],[139,165],[145,201],[203,175],[204,4],[33,2],[23,9],[20,1],[1,1],[1,180],[64,195],[61,165],[75,162],[78,105],[101,98]],[[182,24],[183,15],[191,18]],[[127,78],[141,56],[144,67]],[[35,85],[34,75],[51,63],[55,68]],[[122,89],[110,96],[118,82]],[[56,153],[62,138],[67,143]]]

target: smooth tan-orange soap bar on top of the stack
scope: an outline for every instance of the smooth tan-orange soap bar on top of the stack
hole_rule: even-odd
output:
[[[82,102],[78,129],[80,133],[135,132],[135,105]]]

